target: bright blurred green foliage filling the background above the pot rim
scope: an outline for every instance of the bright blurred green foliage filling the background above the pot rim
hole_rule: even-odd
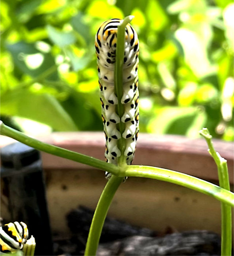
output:
[[[232,140],[230,0],[1,0],[2,118],[101,130],[94,35],[130,14],[140,41],[140,131],[195,138],[207,127]]]

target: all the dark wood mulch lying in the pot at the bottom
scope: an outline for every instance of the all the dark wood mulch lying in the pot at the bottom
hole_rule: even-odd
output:
[[[67,215],[71,236],[54,239],[54,255],[83,255],[94,211],[80,206]],[[168,229],[167,229],[168,230]],[[97,251],[107,255],[220,255],[220,237],[206,230],[159,235],[106,218]]]

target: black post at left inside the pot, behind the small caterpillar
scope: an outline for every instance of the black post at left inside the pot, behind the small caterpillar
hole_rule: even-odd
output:
[[[27,224],[29,235],[35,237],[35,255],[53,255],[39,151],[20,142],[3,147],[1,177],[9,197],[11,219],[8,221]]]

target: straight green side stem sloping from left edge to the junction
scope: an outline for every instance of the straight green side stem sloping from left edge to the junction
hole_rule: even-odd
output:
[[[39,140],[30,138],[22,132],[16,131],[15,129],[12,129],[7,125],[4,125],[2,121],[0,121],[0,133],[1,135],[9,136],[30,147],[36,148],[52,155],[57,155],[58,157],[63,157],[73,160],[75,162],[84,163],[86,165],[93,166],[107,172],[111,172],[112,174],[118,174],[119,172],[119,168],[112,163],[106,163],[105,161],[101,161],[94,157],[89,157],[87,155],[76,153],[61,147],[53,146],[48,143],[40,142]]]

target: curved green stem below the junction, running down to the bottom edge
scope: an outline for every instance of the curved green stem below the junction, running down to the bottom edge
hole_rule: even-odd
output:
[[[116,177],[112,175],[104,190],[102,191],[102,195],[95,209],[90,231],[88,233],[88,240],[86,243],[84,255],[96,255],[107,211],[110,207],[114,194],[122,183],[122,180],[122,177]]]

